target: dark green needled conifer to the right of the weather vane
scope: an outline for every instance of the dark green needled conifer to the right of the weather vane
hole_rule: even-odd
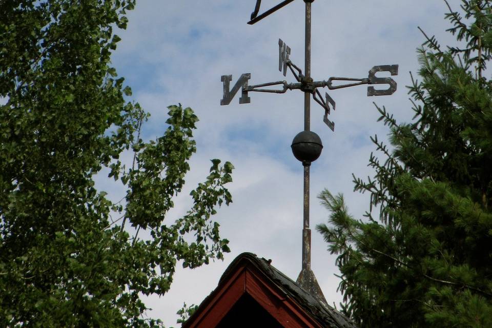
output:
[[[360,327],[492,326],[491,3],[463,0],[460,13],[445,2],[457,46],[423,33],[411,123],[377,108],[391,146],[373,137],[384,160],[371,154],[374,178],[354,176],[370,194],[365,218],[341,194],[319,196],[342,310]]]

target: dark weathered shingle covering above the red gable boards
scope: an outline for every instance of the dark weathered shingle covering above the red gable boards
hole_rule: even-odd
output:
[[[332,308],[330,305],[313,297],[296,282],[276,269],[271,265],[271,260],[258,258],[252,253],[242,253],[232,261],[226,271],[222,274],[217,288],[202,301],[200,306],[198,306],[197,311],[185,324],[183,324],[183,328],[199,326],[193,325],[192,322],[197,321],[200,316],[203,317],[205,315],[204,312],[214,308],[214,304],[211,303],[216,302],[219,297],[223,297],[221,296],[224,295],[223,293],[228,293],[227,290],[230,288],[227,284],[230,283],[232,279],[235,279],[238,275],[238,271],[241,270],[254,272],[254,275],[256,275],[258,279],[261,279],[263,283],[268,284],[268,288],[274,291],[274,294],[277,293],[278,295],[282,295],[282,301],[288,300],[289,302],[292,302],[294,306],[299,308],[300,312],[307,315],[310,320],[314,320],[312,326],[322,328],[357,328],[357,326],[346,316]],[[209,310],[206,310],[207,307]]]

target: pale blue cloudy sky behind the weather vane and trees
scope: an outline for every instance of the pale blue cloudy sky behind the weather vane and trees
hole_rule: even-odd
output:
[[[280,0],[263,0],[260,13]],[[229,106],[220,106],[221,75],[232,74],[235,83],[251,73],[250,84],[286,79],[278,71],[278,39],[291,47],[291,60],[303,68],[304,2],[296,0],[261,22],[247,25],[255,0],[156,1],[139,0],[129,13],[126,31],[113,56],[113,64],[133,89],[133,99],[152,114],[145,126],[147,139],[166,129],[166,107],[181,103],[200,118],[195,133],[197,153],[191,160],[187,189],[177,197],[169,215],[174,221],[191,205],[188,196],[210,168],[210,159],[229,160],[234,166],[229,186],[234,202],[219,209],[215,219],[221,235],[230,240],[226,259],[195,270],[179,268],[171,291],[149,298],[152,317],[176,325],[183,302],[199,304],[217,285],[227,265],[242,252],[272,259],[292,279],[301,269],[302,165],[291,153],[293,137],[303,129],[303,95],[250,93],[251,104],[239,105],[239,94]],[[451,0],[459,9],[459,0]],[[316,195],[324,188],[345,195],[354,216],[368,208],[367,195],[353,193],[352,173],[372,176],[366,167],[374,150],[370,136],[385,139],[387,129],[376,122],[373,105],[385,106],[399,121],[412,119],[406,85],[416,72],[416,48],[428,35],[441,44],[452,40],[443,19],[443,0],[329,1],[313,3],[312,76],[367,77],[375,65],[398,64],[392,96],[367,97],[366,86],[330,91],[336,111],[330,119],[335,132],[324,125],[323,109],[314,101],[311,130],[322,139],[321,157],[311,167],[312,268],[329,303],[338,304],[339,280],[335,256],[314,228],[326,222],[327,211]],[[384,87],[384,86],[383,86]],[[326,89],[326,91],[329,91]],[[322,92],[324,94],[324,91]],[[100,187],[114,199],[121,191],[104,180]]]

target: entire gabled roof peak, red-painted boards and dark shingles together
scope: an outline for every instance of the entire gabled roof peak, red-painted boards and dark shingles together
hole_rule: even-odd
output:
[[[259,306],[253,306],[252,302]],[[238,306],[248,309],[238,309]],[[245,322],[241,320],[256,317],[276,321],[279,327],[356,328],[344,315],[275,269],[270,261],[251,253],[242,253],[234,259],[217,288],[182,328],[221,327],[223,322],[236,320],[232,315],[238,316],[236,327],[243,326]],[[257,327],[262,326],[258,324]]]

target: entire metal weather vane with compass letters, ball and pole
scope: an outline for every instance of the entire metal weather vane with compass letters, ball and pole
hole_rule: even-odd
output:
[[[256,6],[251,14],[251,20],[248,24],[252,25],[259,20],[274,13],[280,8],[290,4],[295,0],[285,0],[275,7],[258,15],[261,0],[256,0]],[[305,3],[305,54],[304,54],[304,73],[290,59],[291,48],[289,48],[281,39],[278,40],[279,61],[278,69],[286,76],[288,69],[296,78],[296,83],[287,83],[287,81],[275,81],[258,85],[248,85],[251,78],[250,73],[241,74],[234,87],[230,88],[232,75],[222,75],[224,91],[220,100],[220,105],[229,105],[231,100],[241,90],[239,104],[249,104],[251,98],[249,92],[270,92],[285,93],[288,90],[301,90],[304,92],[304,131],[298,133],[292,142],[292,152],[294,156],[302,162],[304,167],[304,222],[302,229],[302,270],[297,278],[297,283],[311,293],[322,296],[316,278],[311,271],[311,230],[309,229],[309,179],[311,162],[315,161],[320,155],[323,148],[319,136],[310,131],[311,120],[311,95],[313,99],[324,109],[323,121],[332,130],[335,131],[335,123],[328,118],[331,110],[335,110],[335,101],[325,92],[322,97],[318,89],[327,87],[330,90],[341,88],[355,87],[360,85],[369,85],[367,87],[367,96],[391,95],[396,91],[396,81],[391,77],[377,77],[377,72],[389,72],[392,76],[398,75],[398,65],[381,65],[374,66],[369,70],[368,76],[364,78],[351,77],[330,77],[327,80],[314,81],[311,77],[311,4],[315,0],[303,0]],[[387,89],[377,90],[372,85],[387,85]],[[278,86],[277,89],[267,89],[267,87]],[[313,283],[314,282],[314,283]],[[325,301],[325,300],[324,300]],[[325,301],[326,302],[326,301]]]

